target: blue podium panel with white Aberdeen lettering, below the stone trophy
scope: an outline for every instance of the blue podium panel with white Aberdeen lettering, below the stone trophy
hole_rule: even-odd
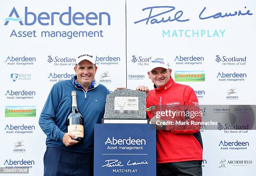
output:
[[[155,176],[156,130],[150,124],[95,124],[95,176]]]

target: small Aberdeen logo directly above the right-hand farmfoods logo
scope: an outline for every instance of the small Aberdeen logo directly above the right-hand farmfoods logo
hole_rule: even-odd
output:
[[[201,65],[204,61],[204,57],[201,56],[176,56],[174,59],[175,64],[177,65]]]

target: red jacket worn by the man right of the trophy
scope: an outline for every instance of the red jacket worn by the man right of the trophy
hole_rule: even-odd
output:
[[[198,100],[194,90],[183,84],[175,83],[172,77],[163,87],[149,92],[146,99],[147,115],[151,119],[157,111],[166,109],[190,112],[198,110]],[[201,121],[201,116],[193,118],[185,115],[179,117],[161,117],[165,121]],[[188,123],[189,124],[189,123]],[[190,126],[166,125],[164,130],[156,132],[156,162],[169,163],[202,160],[202,138],[200,124]]]

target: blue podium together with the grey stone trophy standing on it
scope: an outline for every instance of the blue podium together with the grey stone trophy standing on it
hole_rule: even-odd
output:
[[[117,89],[94,126],[95,176],[155,176],[156,129],[146,119],[146,92]]]

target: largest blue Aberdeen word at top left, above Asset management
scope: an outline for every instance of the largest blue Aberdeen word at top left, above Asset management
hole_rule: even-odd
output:
[[[56,18],[59,20],[61,25],[84,25],[84,22],[87,25],[102,25],[103,20],[107,20],[104,24],[110,25],[110,14],[108,12],[100,12],[96,14],[95,12],[89,12],[84,14],[82,12],[73,12],[72,7],[68,7],[67,12],[40,12],[38,15],[32,11],[28,11],[28,7],[25,7],[24,12],[25,18],[21,17],[15,7],[10,12],[10,15],[5,18],[5,24],[8,25],[10,21],[19,22],[20,25],[31,26],[38,22],[40,25],[54,25],[56,23]],[[90,16],[90,17],[89,17]],[[94,17],[92,17],[94,16]],[[97,19],[98,21],[91,21],[90,19]],[[22,21],[24,19],[24,21]],[[79,20],[79,21],[78,21]],[[82,21],[81,21],[82,20]],[[65,22],[64,22],[65,21]],[[97,23],[98,22],[98,23]]]

